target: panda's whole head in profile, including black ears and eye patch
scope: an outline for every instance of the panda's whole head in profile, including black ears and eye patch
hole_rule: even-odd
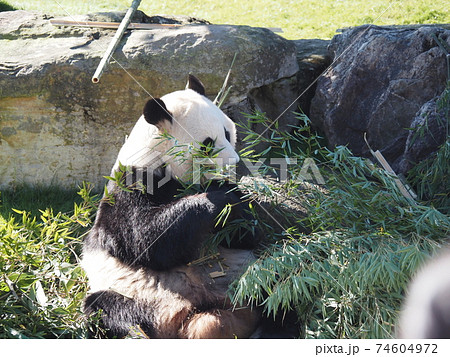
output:
[[[119,162],[146,169],[164,164],[172,177],[186,181],[192,176],[193,148],[211,148],[214,163],[224,166],[239,161],[235,145],[235,124],[205,96],[203,84],[189,75],[185,90],[152,98],[145,104],[113,172]]]

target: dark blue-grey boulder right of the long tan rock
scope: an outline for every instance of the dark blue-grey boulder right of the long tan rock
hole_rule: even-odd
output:
[[[311,104],[311,120],[331,146],[368,156],[367,133],[399,169],[416,113],[445,88],[445,54],[433,34],[450,45],[450,31],[436,26],[361,26],[333,38],[334,63]]]

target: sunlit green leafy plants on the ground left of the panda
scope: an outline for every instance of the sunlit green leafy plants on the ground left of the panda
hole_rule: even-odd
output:
[[[80,338],[87,336],[81,303],[87,283],[79,266],[83,235],[92,222],[95,200],[87,186],[80,204],[58,189],[24,189],[8,202],[32,203],[39,217],[15,209],[0,216],[0,338]],[[44,193],[50,194],[45,197]],[[67,201],[63,200],[63,197]],[[72,208],[68,213],[56,209]]]

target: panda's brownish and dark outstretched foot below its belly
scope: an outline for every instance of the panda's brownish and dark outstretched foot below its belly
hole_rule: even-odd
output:
[[[259,312],[249,308],[201,312],[185,321],[180,337],[248,338],[255,331],[259,317]]]

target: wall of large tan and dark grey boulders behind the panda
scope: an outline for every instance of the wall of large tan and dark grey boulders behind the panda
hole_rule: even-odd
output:
[[[373,149],[400,171],[445,140],[434,135],[433,142],[406,148],[409,128],[419,130],[423,123],[417,118],[424,115],[422,106],[436,102],[445,88],[445,54],[433,37],[450,44],[445,26],[363,26],[335,36],[328,48],[329,41],[289,41],[263,28],[138,12],[134,22],[186,26],[126,32],[93,84],[115,30],[55,27],[50,19],[26,11],[0,13],[0,188],[72,187],[82,181],[101,188],[150,95],[184,88],[193,73],[213,99],[235,55],[222,109],[236,122],[258,109],[269,120],[282,114],[279,127],[289,130],[296,123],[293,111],[301,109],[330,146],[349,145],[356,155],[370,156],[363,141],[367,132]]]

